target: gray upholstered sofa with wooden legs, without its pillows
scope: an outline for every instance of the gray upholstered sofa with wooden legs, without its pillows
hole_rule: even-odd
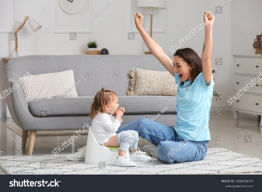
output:
[[[16,124],[23,129],[22,148],[29,132],[28,154],[33,152],[36,131],[79,130],[91,125],[88,117],[94,95],[101,86],[118,95],[125,108],[121,126],[144,117],[168,126],[175,125],[175,96],[124,96],[129,87],[127,73],[133,68],[155,71],[166,69],[153,55],[30,55],[12,58],[6,64],[6,88],[17,83],[26,72],[32,75],[72,69],[78,97],[50,98],[26,102],[23,90],[16,88],[7,96],[7,105]],[[169,86],[169,85],[167,85]],[[168,106],[165,113],[161,109]],[[45,115],[43,115],[45,114]]]

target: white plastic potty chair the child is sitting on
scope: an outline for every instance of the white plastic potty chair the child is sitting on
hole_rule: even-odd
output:
[[[101,164],[105,162],[106,165],[113,165],[118,156],[119,147],[105,147],[98,144],[92,128],[88,130],[87,148],[85,156],[85,164]],[[127,152],[127,158],[129,152]],[[102,163],[103,164],[103,163]]]

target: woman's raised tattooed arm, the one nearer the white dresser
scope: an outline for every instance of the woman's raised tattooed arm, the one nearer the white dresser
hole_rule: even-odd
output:
[[[211,65],[211,54],[212,54],[212,26],[215,17],[211,14],[211,11],[204,12],[205,22],[205,41],[203,51],[201,54],[202,59],[202,73],[207,86],[209,85],[212,78],[212,65]]]

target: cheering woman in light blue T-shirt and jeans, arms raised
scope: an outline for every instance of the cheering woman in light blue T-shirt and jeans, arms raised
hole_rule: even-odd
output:
[[[142,28],[143,16],[136,13],[135,25],[149,51],[175,77],[178,84],[175,127],[140,118],[116,131],[135,130],[154,145],[143,151],[167,163],[202,160],[208,148],[208,129],[214,79],[212,75],[212,25],[215,17],[204,12],[205,42],[201,58],[190,49],[179,49],[172,61]]]

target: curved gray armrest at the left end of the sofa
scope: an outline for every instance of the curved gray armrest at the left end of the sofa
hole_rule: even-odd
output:
[[[15,79],[7,79],[6,90],[6,102],[13,120],[19,127],[27,130],[33,121],[33,114],[26,102],[20,83]]]

